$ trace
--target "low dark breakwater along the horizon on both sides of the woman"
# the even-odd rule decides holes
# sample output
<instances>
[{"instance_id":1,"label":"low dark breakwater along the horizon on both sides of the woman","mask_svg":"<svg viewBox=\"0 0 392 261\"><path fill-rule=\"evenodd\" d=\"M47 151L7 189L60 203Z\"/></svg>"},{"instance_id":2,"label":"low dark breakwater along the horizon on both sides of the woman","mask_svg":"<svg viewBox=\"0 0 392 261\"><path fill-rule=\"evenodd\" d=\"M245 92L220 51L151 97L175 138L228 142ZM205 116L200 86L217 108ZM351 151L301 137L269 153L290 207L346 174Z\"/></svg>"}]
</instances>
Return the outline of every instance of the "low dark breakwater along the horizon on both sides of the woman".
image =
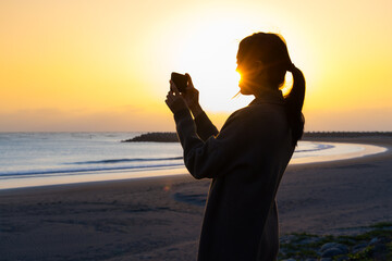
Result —
<instances>
[{"instance_id":1,"label":"low dark breakwater along the horizon on both sides of the woman","mask_svg":"<svg viewBox=\"0 0 392 261\"><path fill-rule=\"evenodd\" d=\"M309 132L303 138L358 138L358 137L392 137L392 132ZM122 142L179 142L176 133L146 133Z\"/></svg>"}]
</instances>

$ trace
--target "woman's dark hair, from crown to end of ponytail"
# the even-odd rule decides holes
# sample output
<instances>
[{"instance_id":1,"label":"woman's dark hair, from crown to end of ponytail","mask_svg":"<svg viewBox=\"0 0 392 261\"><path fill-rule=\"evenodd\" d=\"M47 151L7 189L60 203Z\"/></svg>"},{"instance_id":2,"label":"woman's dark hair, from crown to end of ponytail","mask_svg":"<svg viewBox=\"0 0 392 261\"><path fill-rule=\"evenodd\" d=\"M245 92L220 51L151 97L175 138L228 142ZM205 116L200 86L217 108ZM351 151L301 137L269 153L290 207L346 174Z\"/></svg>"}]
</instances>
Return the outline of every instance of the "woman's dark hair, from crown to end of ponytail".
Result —
<instances>
[{"instance_id":1,"label":"woman's dark hair, from crown to end of ponytail","mask_svg":"<svg viewBox=\"0 0 392 261\"><path fill-rule=\"evenodd\" d=\"M261 61L265 65L269 86L278 89L284 84L286 72L293 75L293 87L284 98L285 112L296 145L304 133L305 119L302 108L305 98L305 78L299 69L292 63L286 44L282 37L270 33L256 33L240 42L238 62Z\"/></svg>"}]
</instances>

